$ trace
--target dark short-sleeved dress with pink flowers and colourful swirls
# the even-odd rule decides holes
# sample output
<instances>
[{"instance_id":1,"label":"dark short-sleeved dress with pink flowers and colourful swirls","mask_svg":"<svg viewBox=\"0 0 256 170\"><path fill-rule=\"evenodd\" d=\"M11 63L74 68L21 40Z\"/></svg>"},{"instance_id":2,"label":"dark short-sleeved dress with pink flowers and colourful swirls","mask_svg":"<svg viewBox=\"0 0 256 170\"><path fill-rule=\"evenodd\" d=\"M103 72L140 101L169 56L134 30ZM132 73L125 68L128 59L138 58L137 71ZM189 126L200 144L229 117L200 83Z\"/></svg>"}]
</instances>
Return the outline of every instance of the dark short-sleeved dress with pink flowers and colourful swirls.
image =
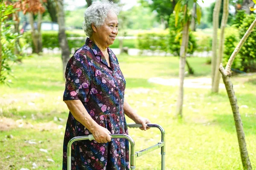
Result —
<instances>
[{"instance_id":1,"label":"dark short-sleeved dress with pink flowers and colourful swirls","mask_svg":"<svg viewBox=\"0 0 256 170\"><path fill-rule=\"evenodd\" d=\"M87 38L85 44L70 58L66 68L63 100L81 100L87 112L112 134L128 134L123 111L125 79L119 62L110 48L111 67L100 49ZM67 169L67 143L75 136L89 135L69 112L63 146L63 167ZM72 170L129 170L127 139L74 142L71 150Z\"/></svg>"}]
</instances>

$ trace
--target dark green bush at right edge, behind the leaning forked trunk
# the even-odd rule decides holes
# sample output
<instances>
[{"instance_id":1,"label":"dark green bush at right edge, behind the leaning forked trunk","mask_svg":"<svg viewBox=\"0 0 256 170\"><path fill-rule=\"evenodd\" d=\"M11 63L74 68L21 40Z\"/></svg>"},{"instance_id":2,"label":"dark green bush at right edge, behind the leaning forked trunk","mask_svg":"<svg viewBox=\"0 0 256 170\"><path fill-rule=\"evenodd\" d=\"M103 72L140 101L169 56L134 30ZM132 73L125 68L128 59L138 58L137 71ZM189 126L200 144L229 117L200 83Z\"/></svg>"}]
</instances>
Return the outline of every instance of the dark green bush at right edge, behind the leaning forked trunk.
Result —
<instances>
[{"instance_id":1,"label":"dark green bush at right edge, behind the leaning forked trunk","mask_svg":"<svg viewBox=\"0 0 256 170\"><path fill-rule=\"evenodd\" d=\"M250 24L255 20L256 15L250 14L244 18L242 25L239 27L239 38L241 39ZM256 32L252 31L250 36L244 42L243 47L239 51L239 57L241 58L241 71L255 72L256 71Z\"/></svg>"}]
</instances>

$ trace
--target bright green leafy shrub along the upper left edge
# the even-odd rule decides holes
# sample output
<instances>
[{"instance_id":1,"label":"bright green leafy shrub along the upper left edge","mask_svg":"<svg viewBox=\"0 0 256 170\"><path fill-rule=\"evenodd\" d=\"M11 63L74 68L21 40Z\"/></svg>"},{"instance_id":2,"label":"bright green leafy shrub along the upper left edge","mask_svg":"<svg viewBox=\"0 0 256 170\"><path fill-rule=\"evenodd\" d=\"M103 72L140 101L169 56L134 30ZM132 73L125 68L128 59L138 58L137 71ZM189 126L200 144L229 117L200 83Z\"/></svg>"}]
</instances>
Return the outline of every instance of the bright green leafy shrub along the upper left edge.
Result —
<instances>
[{"instance_id":1,"label":"bright green leafy shrub along the upper left edge","mask_svg":"<svg viewBox=\"0 0 256 170\"><path fill-rule=\"evenodd\" d=\"M15 55L15 41L18 34L12 32L14 22L8 21L7 18L10 14L14 13L16 9L12 5L6 6L3 2L0 3L0 43L2 45L0 56L0 83L7 83L6 79L12 75L10 61L15 62L17 56Z\"/></svg>"}]
</instances>

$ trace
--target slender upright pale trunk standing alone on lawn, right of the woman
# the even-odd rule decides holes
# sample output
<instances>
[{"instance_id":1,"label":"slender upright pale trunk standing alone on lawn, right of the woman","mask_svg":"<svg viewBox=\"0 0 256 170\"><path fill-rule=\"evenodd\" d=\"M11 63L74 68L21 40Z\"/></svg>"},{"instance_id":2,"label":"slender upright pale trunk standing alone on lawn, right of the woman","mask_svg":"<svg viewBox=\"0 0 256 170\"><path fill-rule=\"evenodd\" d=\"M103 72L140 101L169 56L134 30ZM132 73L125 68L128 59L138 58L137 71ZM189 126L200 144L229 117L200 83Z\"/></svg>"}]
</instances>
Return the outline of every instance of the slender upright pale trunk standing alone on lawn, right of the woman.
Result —
<instances>
[{"instance_id":1,"label":"slender upright pale trunk standing alone on lawn, right of the woman","mask_svg":"<svg viewBox=\"0 0 256 170\"><path fill-rule=\"evenodd\" d=\"M179 92L177 99L176 117L182 118L182 106L183 106L183 82L185 77L185 65L186 65L186 51L189 42L189 21L183 26L182 43L180 46L180 66L179 66Z\"/></svg>"}]
</instances>

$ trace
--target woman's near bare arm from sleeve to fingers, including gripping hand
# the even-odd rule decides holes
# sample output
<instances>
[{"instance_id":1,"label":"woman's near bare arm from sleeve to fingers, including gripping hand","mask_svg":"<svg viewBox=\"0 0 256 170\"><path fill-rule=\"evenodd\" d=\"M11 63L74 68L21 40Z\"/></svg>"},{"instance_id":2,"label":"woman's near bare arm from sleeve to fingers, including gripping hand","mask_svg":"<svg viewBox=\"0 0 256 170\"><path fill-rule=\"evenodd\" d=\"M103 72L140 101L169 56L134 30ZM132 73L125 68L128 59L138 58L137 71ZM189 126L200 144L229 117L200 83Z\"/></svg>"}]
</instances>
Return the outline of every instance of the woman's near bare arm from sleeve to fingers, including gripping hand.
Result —
<instances>
[{"instance_id":1,"label":"woman's near bare arm from sleeve to fingers, including gripping hand","mask_svg":"<svg viewBox=\"0 0 256 170\"><path fill-rule=\"evenodd\" d=\"M92 134L96 142L107 143L111 141L111 134L108 129L98 125L84 108L80 100L66 100L68 109L74 118L86 127Z\"/></svg>"}]
</instances>

